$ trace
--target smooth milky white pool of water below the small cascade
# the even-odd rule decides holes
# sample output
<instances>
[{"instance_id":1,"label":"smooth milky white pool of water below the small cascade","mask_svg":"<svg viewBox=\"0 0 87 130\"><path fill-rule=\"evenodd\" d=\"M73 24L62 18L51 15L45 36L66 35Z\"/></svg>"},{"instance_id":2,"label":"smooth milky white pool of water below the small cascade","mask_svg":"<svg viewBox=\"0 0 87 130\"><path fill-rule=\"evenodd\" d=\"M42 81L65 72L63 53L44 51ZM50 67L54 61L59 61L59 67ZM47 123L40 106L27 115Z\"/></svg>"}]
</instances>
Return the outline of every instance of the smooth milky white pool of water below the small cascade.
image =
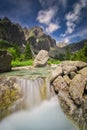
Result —
<instances>
[{"instance_id":1,"label":"smooth milky white pool of water below the small cascade","mask_svg":"<svg viewBox=\"0 0 87 130\"><path fill-rule=\"evenodd\" d=\"M15 113L0 123L0 130L77 130L66 118L55 96L32 111Z\"/></svg>"}]
</instances>

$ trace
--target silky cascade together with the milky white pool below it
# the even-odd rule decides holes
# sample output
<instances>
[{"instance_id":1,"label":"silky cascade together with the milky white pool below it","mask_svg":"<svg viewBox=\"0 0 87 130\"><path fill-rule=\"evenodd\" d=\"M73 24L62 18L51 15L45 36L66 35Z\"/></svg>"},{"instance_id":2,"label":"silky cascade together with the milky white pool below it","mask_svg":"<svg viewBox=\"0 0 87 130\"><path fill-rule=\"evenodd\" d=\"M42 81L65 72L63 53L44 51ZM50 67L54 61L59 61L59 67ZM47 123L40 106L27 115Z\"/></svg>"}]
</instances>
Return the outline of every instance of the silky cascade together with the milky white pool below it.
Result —
<instances>
[{"instance_id":1,"label":"silky cascade together with the milky white pool below it","mask_svg":"<svg viewBox=\"0 0 87 130\"><path fill-rule=\"evenodd\" d=\"M17 83L22 97L10 108L14 113L0 122L0 130L78 130L62 112L48 78L21 77Z\"/></svg>"}]
</instances>

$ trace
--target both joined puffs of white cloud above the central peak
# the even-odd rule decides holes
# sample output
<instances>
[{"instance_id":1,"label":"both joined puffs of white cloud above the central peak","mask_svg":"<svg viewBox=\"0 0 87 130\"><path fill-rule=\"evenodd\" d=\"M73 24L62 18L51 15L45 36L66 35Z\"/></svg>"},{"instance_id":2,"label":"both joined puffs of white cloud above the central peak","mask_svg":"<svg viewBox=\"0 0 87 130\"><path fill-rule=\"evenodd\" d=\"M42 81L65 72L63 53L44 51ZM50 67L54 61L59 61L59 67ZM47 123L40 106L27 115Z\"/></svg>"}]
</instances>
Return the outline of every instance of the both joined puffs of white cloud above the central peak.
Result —
<instances>
[{"instance_id":1,"label":"both joined puffs of white cloud above the central peak","mask_svg":"<svg viewBox=\"0 0 87 130\"><path fill-rule=\"evenodd\" d=\"M36 19L39 23L45 24L45 31L47 33L53 33L54 31L60 28L59 23L56 22L56 20L54 22L57 10L58 9L56 7L51 7L49 9L40 10L38 12L38 16Z\"/></svg>"}]
</instances>

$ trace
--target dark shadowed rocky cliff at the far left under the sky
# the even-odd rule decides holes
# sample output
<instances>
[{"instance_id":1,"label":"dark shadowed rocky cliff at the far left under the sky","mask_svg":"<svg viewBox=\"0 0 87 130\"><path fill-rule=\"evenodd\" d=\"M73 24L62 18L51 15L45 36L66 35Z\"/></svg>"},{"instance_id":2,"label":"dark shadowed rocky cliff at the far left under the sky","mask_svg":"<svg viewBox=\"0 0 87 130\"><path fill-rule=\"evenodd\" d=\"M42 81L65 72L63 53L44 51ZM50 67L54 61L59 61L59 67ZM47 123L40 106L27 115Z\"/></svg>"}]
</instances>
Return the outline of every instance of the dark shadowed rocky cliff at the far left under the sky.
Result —
<instances>
[{"instance_id":1,"label":"dark shadowed rocky cliff at the far left under the sky","mask_svg":"<svg viewBox=\"0 0 87 130\"><path fill-rule=\"evenodd\" d=\"M25 43L22 27L19 24L12 23L7 17L0 19L0 39L18 45Z\"/></svg>"}]
</instances>

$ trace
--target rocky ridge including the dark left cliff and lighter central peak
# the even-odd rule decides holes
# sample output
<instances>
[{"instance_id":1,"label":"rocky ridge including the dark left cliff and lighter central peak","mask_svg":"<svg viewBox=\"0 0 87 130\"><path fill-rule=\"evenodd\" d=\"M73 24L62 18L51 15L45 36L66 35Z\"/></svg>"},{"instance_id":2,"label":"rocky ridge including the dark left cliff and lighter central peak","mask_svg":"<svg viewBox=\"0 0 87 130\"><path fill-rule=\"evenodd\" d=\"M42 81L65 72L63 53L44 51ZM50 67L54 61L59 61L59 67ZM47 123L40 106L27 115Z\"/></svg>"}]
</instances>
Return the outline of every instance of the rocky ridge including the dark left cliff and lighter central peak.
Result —
<instances>
[{"instance_id":1,"label":"rocky ridge including the dark left cliff and lighter central peak","mask_svg":"<svg viewBox=\"0 0 87 130\"><path fill-rule=\"evenodd\" d=\"M29 41L32 52L38 52L41 49L49 51L51 47L56 46L56 41L46 35L41 27L22 28L19 24L12 23L7 17L0 19L0 39L20 46Z\"/></svg>"}]
</instances>

